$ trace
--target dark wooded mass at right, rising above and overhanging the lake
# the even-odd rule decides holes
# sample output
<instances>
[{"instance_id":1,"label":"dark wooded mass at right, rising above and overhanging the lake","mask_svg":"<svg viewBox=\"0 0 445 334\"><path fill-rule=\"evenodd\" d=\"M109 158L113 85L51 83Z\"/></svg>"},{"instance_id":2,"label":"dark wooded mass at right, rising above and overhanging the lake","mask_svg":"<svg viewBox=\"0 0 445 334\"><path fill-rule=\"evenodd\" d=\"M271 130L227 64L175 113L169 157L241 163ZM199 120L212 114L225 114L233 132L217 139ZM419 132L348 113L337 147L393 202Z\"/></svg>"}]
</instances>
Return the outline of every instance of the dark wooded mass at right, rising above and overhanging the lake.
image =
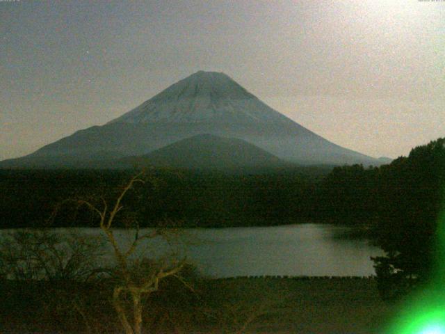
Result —
<instances>
[{"instance_id":1,"label":"dark wooded mass at right, rising above and overhanging the lake","mask_svg":"<svg viewBox=\"0 0 445 334\"><path fill-rule=\"evenodd\" d=\"M439 239L445 224L445 138L380 168L334 168L321 188L325 218L372 223L371 237L385 250L373 259L385 299L438 275L445 260Z\"/></svg>"}]
</instances>

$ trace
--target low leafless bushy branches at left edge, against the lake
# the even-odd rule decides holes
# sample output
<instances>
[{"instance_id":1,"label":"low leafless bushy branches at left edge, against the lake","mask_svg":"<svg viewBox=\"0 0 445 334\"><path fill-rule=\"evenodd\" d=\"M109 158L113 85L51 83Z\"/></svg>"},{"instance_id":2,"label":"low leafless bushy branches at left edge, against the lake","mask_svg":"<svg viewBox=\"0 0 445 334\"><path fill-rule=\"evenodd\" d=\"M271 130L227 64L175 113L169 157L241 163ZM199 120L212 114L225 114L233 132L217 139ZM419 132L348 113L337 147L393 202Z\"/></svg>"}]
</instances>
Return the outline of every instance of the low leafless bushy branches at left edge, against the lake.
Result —
<instances>
[{"instance_id":1,"label":"low leafless bushy branches at left edge, against the lake","mask_svg":"<svg viewBox=\"0 0 445 334\"><path fill-rule=\"evenodd\" d=\"M86 280L95 271L99 238L43 229L7 232L0 239L0 276L13 280Z\"/></svg>"}]
</instances>

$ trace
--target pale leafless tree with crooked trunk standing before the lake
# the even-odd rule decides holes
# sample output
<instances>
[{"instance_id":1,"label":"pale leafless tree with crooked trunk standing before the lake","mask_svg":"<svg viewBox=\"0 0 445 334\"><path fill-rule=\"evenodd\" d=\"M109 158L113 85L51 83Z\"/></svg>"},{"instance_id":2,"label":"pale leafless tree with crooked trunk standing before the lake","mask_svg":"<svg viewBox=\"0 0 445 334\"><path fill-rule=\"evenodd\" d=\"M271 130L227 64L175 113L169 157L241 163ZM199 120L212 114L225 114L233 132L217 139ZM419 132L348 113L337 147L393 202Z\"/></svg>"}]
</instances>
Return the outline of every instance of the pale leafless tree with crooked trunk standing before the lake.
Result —
<instances>
[{"instance_id":1,"label":"pale leafless tree with crooked trunk standing before the lake","mask_svg":"<svg viewBox=\"0 0 445 334\"><path fill-rule=\"evenodd\" d=\"M120 323L126 334L140 334L143 328L143 298L149 296L159 289L159 282L168 276L178 276L179 271L184 267L185 260L135 260L134 254L141 241L158 237L168 238L169 231L165 228L151 230L140 234L136 223L136 232L133 241L127 247L120 246L113 232L115 217L123 209L122 200L137 183L145 183L144 172L131 178L120 192L118 198L108 205L102 199L102 207L93 205L86 200L78 200L79 204L86 205L100 218L100 228L106 235L108 242L113 248L114 258L117 262L115 271L115 286L113 288L113 307L118 313ZM126 298L130 299L130 307L126 307Z\"/></svg>"}]
</instances>

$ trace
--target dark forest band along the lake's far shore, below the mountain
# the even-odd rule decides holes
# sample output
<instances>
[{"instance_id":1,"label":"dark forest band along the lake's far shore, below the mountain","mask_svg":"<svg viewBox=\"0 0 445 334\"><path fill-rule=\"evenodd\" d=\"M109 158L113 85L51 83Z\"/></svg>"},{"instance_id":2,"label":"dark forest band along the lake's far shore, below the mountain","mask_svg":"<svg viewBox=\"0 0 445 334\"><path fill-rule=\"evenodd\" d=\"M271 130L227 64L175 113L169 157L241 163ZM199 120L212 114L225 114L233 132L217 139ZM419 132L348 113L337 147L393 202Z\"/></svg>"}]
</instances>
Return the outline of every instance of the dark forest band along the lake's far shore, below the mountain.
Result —
<instances>
[{"instance_id":1,"label":"dark forest band along the lake's far shore, below the mountain","mask_svg":"<svg viewBox=\"0 0 445 334\"><path fill-rule=\"evenodd\" d=\"M329 168L280 173L149 170L124 199L118 225L226 227L312 220L316 186ZM110 202L136 170L1 170L0 227L97 227L77 200Z\"/></svg>"}]
</instances>

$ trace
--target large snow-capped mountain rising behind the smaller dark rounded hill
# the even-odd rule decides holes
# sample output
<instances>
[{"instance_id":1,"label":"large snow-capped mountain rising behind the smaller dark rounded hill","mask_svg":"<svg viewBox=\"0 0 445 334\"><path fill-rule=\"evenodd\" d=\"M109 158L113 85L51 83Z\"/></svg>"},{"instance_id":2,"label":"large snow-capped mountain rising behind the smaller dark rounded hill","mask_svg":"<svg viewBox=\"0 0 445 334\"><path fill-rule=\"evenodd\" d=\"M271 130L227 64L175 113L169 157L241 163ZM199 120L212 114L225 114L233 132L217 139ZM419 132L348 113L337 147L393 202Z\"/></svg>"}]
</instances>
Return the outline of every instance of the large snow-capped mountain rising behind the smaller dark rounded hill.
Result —
<instances>
[{"instance_id":1,"label":"large snow-capped mountain rising behind the smaller dark rounded hill","mask_svg":"<svg viewBox=\"0 0 445 334\"><path fill-rule=\"evenodd\" d=\"M200 71L105 125L80 130L25 157L0 161L0 168L76 168L91 161L108 161L113 168L113 161L202 134L235 138L297 164L381 164L302 127L226 74Z\"/></svg>"}]
</instances>

